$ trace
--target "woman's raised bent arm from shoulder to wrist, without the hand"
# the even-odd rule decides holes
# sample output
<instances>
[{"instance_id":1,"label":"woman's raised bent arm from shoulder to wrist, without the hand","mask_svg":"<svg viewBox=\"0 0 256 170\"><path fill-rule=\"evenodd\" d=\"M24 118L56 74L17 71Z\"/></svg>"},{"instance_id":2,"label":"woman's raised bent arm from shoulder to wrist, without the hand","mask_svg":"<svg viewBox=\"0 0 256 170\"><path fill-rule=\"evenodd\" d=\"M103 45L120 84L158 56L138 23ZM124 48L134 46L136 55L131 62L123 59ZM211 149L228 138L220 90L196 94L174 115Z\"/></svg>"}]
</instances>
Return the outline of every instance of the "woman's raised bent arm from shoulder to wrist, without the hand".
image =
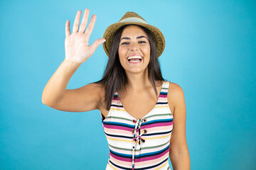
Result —
<instances>
[{"instance_id":1,"label":"woman's raised bent arm from shoulder to wrist, without the hand","mask_svg":"<svg viewBox=\"0 0 256 170\"><path fill-rule=\"evenodd\" d=\"M59 111L85 112L100 109L104 100L101 84L87 84L78 89L66 89L68 81L80 64L64 60L43 89L42 102Z\"/></svg>"}]
</instances>

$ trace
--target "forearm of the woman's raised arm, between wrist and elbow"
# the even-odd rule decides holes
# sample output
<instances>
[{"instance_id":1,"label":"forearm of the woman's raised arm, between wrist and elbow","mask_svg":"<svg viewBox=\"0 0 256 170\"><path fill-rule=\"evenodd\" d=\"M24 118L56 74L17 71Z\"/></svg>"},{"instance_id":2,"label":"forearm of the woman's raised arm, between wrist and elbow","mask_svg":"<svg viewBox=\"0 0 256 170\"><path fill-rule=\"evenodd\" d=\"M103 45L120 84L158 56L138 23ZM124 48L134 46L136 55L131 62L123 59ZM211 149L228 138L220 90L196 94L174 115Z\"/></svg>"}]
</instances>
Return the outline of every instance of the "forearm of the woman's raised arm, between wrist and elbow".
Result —
<instances>
[{"instance_id":1,"label":"forearm of the woman's raised arm, between wrist and elbow","mask_svg":"<svg viewBox=\"0 0 256 170\"><path fill-rule=\"evenodd\" d=\"M43 89L42 102L48 106L53 106L61 100L68 86L68 81L73 76L80 64L64 60L55 71Z\"/></svg>"}]
</instances>

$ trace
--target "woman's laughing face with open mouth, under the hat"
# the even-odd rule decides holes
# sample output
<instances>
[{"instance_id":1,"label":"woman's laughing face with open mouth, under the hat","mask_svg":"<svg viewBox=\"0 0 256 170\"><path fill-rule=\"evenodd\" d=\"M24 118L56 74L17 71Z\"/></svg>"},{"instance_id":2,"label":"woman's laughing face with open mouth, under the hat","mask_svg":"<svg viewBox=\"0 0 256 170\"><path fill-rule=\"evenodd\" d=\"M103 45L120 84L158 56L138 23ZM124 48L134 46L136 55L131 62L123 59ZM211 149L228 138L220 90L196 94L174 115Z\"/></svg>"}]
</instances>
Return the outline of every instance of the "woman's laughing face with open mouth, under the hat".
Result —
<instances>
[{"instance_id":1,"label":"woman's laughing face with open mouth, under the hat","mask_svg":"<svg viewBox=\"0 0 256 170\"><path fill-rule=\"evenodd\" d=\"M118 48L119 60L125 72L144 72L150 60L149 38L139 26L127 26L122 31Z\"/></svg>"}]
</instances>

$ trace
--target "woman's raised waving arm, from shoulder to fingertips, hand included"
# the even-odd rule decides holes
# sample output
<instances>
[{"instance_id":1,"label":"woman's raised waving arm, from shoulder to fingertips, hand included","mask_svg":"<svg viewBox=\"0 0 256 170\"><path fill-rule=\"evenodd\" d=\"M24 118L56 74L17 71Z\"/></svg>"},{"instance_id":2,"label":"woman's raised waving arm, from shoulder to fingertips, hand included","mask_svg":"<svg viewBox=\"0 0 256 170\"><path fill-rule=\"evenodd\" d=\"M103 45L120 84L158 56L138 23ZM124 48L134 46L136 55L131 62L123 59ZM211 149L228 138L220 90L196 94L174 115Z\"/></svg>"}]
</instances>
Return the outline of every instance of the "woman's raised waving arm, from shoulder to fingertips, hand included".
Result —
<instances>
[{"instance_id":1,"label":"woman's raised waving arm, from shoulder to fingertips, hand included","mask_svg":"<svg viewBox=\"0 0 256 170\"><path fill-rule=\"evenodd\" d=\"M80 64L85 62L95 52L95 49L105 41L104 38L100 38L89 46L89 38L95 25L96 16L92 15L87 26L89 9L85 9L79 28L81 13L82 11L78 11L75 16L72 34L70 33L70 21L66 21L65 60L43 89L42 102L60 111L91 111L97 109L100 101L102 101L100 95L102 94L102 86L100 85L87 84L78 89L66 89L68 81L80 67Z\"/></svg>"}]
</instances>

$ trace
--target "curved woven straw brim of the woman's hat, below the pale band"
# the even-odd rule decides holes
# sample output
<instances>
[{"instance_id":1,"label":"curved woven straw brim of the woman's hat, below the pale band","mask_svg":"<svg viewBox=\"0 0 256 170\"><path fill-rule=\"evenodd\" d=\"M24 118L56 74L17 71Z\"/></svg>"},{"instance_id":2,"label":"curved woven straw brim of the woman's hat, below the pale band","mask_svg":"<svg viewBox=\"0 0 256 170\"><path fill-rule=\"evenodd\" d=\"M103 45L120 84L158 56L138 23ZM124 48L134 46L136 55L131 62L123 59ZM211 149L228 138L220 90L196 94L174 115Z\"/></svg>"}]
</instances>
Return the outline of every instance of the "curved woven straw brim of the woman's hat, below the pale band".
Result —
<instances>
[{"instance_id":1,"label":"curved woven straw brim of the woman's hat, below the pale band","mask_svg":"<svg viewBox=\"0 0 256 170\"><path fill-rule=\"evenodd\" d=\"M161 31L149 24L146 23L138 23L138 22L125 22L125 23L113 23L107 29L105 30L105 33L103 34L103 38L105 38L105 42L103 42L103 49L105 50L106 54L108 57L110 57L110 48L114 39L114 34L117 32L119 28L125 25L139 25L142 26L146 29L148 29L152 35L154 36L154 41L156 43L156 53L157 57L160 57L160 55L164 52L164 47L165 47L165 39L163 33Z\"/></svg>"}]
</instances>

